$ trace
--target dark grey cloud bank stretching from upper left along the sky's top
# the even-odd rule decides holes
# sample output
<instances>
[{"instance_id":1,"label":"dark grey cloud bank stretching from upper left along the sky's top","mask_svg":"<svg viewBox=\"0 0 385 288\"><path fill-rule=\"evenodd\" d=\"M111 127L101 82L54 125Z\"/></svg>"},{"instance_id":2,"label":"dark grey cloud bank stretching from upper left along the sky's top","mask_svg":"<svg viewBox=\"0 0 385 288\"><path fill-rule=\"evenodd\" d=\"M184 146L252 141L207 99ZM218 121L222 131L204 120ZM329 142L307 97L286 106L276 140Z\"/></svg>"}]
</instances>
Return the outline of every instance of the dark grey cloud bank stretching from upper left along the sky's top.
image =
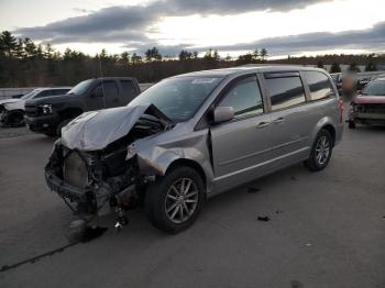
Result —
<instances>
[{"instance_id":1,"label":"dark grey cloud bank stretching from upper left along the sky's top","mask_svg":"<svg viewBox=\"0 0 385 288\"><path fill-rule=\"evenodd\" d=\"M238 14L251 11L288 11L330 0L156 0L147 5L116 5L68 18L45 26L22 27L14 32L53 44L70 42L146 42L146 32L163 16L190 14Z\"/></svg>"}]
</instances>

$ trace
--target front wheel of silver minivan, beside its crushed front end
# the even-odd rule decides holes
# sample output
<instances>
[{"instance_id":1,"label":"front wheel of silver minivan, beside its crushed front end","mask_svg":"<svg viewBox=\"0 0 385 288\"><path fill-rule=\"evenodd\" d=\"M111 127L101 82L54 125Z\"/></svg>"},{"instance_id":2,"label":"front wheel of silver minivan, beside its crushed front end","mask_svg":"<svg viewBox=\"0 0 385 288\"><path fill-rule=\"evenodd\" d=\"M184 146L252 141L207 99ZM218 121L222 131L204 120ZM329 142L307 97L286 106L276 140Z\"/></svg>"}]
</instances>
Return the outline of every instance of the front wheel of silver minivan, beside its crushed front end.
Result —
<instances>
[{"instance_id":1,"label":"front wheel of silver minivan, beside its crushed front end","mask_svg":"<svg viewBox=\"0 0 385 288\"><path fill-rule=\"evenodd\" d=\"M176 167L158 177L145 195L148 220L157 229L179 233L195 222L205 201L205 185L190 167Z\"/></svg>"}]
</instances>

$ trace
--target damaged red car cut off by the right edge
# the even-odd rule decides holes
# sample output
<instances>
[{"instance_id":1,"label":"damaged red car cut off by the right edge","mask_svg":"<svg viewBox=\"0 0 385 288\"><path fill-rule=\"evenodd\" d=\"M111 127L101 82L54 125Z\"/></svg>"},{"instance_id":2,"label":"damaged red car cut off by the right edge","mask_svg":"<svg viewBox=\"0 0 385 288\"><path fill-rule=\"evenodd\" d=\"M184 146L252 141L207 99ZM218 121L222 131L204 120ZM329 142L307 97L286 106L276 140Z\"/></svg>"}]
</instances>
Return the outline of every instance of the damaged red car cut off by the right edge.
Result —
<instances>
[{"instance_id":1,"label":"damaged red car cut off by the right edge","mask_svg":"<svg viewBox=\"0 0 385 288\"><path fill-rule=\"evenodd\" d=\"M356 123L385 124L385 78L369 82L352 99L348 123L350 129L354 129Z\"/></svg>"}]
</instances>

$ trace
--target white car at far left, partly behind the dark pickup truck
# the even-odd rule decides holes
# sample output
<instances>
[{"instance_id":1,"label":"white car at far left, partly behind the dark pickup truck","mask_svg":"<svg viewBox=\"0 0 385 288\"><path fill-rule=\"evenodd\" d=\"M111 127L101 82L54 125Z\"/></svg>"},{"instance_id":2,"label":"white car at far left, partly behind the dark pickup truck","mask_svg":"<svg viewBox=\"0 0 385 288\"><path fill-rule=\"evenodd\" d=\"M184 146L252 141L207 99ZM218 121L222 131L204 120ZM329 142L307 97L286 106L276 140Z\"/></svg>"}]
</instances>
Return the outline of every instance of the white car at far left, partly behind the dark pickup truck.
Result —
<instances>
[{"instance_id":1,"label":"white car at far left, partly behind the dark pickup truck","mask_svg":"<svg viewBox=\"0 0 385 288\"><path fill-rule=\"evenodd\" d=\"M40 99L48 96L63 95L72 87L37 88L21 98L11 98L0 101L0 122L8 126L24 125L24 104L29 99Z\"/></svg>"}]
</instances>

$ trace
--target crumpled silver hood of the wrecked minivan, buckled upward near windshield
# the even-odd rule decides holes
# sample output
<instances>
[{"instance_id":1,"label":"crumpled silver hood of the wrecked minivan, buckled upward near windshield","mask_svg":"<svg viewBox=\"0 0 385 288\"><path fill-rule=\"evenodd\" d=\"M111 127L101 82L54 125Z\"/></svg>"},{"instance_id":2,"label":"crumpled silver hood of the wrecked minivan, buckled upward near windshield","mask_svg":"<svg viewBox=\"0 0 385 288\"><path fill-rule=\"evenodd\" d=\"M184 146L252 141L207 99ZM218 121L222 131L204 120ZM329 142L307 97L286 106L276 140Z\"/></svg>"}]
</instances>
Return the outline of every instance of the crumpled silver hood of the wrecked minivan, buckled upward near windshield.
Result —
<instances>
[{"instance_id":1,"label":"crumpled silver hood of the wrecked minivan, buckled upward near windshield","mask_svg":"<svg viewBox=\"0 0 385 288\"><path fill-rule=\"evenodd\" d=\"M168 125L173 122L155 106L127 106L86 112L62 130L62 144L70 149L99 151L125 136L143 115L156 117Z\"/></svg>"}]
</instances>

